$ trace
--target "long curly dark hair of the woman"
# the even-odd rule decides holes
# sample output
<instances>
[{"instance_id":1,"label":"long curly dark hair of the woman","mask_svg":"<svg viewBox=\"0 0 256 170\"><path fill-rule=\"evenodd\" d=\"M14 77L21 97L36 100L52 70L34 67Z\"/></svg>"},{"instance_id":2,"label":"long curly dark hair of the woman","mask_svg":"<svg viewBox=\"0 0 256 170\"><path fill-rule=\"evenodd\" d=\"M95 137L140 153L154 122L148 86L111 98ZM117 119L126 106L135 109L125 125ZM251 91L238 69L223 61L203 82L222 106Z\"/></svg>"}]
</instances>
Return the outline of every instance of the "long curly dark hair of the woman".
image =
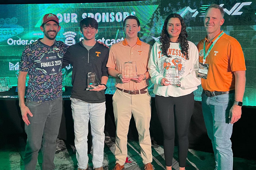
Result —
<instances>
[{"instance_id":1,"label":"long curly dark hair of the woman","mask_svg":"<svg viewBox=\"0 0 256 170\"><path fill-rule=\"evenodd\" d=\"M181 46L181 53L184 55L184 57L186 59L189 59L189 57L188 57L188 48L189 47L188 47L188 40L187 40L188 34L187 34L187 31L186 31L185 22L179 14L170 14L170 15L168 15L168 17L164 21L162 33L161 33L161 36L160 36L160 42L162 43L162 45L160 45L160 48L162 50L162 54L166 55L168 57L171 57L170 55L167 54L168 53L168 48L170 47L170 38L169 38L169 34L166 30L166 27L167 27L167 24L168 24L168 21L169 21L170 18L179 18L179 20L180 20L181 32L180 32L178 41L179 41L180 46Z\"/></svg>"}]
</instances>

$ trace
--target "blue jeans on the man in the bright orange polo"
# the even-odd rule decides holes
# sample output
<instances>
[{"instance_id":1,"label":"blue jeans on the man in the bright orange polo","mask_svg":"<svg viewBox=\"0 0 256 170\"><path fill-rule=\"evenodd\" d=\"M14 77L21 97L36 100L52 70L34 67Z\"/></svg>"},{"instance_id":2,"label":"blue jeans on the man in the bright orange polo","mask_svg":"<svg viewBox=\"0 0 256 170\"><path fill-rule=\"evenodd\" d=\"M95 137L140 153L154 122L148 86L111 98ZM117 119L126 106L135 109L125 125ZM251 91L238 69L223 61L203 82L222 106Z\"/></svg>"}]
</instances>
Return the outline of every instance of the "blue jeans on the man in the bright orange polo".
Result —
<instances>
[{"instance_id":1,"label":"blue jeans on the man in the bright orange polo","mask_svg":"<svg viewBox=\"0 0 256 170\"><path fill-rule=\"evenodd\" d=\"M215 155L215 170L233 169L231 134L233 124L229 121L229 110L233 106L235 93L207 97L202 94L202 110L209 138Z\"/></svg>"}]
</instances>

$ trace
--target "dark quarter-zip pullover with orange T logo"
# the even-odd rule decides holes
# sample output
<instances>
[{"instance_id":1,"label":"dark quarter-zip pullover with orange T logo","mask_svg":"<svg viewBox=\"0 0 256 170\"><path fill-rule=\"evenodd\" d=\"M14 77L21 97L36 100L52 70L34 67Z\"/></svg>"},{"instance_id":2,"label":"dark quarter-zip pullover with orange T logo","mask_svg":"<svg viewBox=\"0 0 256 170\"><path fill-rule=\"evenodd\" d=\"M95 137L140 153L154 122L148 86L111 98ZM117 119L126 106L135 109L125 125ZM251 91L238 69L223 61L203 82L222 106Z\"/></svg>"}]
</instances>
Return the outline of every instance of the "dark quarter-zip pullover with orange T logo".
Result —
<instances>
[{"instance_id":1,"label":"dark quarter-zip pullover with orange T logo","mask_svg":"<svg viewBox=\"0 0 256 170\"><path fill-rule=\"evenodd\" d=\"M63 57L62 68L71 64L72 70L72 92L71 98L80 99L88 103L102 103L106 101L105 92L86 90L88 72L95 72L99 84L101 77L108 76L107 61L109 49L96 42L88 51L82 41L71 45Z\"/></svg>"}]
</instances>

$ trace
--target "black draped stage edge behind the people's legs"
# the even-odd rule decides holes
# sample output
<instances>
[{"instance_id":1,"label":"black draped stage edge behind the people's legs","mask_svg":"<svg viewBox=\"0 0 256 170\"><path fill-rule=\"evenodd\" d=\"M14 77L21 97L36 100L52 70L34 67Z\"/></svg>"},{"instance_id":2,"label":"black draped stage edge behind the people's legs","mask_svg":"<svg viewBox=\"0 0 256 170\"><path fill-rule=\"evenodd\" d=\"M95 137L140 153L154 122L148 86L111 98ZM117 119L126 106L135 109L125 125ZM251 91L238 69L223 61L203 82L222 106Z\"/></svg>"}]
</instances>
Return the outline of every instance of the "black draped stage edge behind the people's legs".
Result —
<instances>
[{"instance_id":1,"label":"black draped stage edge behind the people's legs","mask_svg":"<svg viewBox=\"0 0 256 170\"><path fill-rule=\"evenodd\" d=\"M17 96L15 92L16 87L13 87L8 92L1 92L0 96ZM66 88L66 92L63 96L69 96L71 87ZM106 96L106 115L105 115L105 135L115 137L115 122L112 107L112 96ZM159 123L156 107L155 98L151 99L151 122L150 122L150 134L152 142L157 144L163 144L163 132ZM4 142L5 138L11 137L12 139L18 138L19 136L26 136L24 131L24 122L21 117L19 101L17 98L0 98L0 146ZM241 157L246 159L256 160L256 146L255 138L256 133L254 132L256 119L256 107L243 106L242 117L234 124L232 140L232 149L234 157ZM90 130L89 130L90 131ZM59 131L59 138L66 140L68 143L74 143L74 128L71 112L71 101L69 98L63 99L63 115ZM128 139L138 140L138 132L135 127L135 122L132 117L128 132ZM88 138L90 141L90 138ZM90 143L89 143L90 145ZM195 101L194 111L189 127L189 148L213 152L211 141L207 136L201 102Z\"/></svg>"}]
</instances>

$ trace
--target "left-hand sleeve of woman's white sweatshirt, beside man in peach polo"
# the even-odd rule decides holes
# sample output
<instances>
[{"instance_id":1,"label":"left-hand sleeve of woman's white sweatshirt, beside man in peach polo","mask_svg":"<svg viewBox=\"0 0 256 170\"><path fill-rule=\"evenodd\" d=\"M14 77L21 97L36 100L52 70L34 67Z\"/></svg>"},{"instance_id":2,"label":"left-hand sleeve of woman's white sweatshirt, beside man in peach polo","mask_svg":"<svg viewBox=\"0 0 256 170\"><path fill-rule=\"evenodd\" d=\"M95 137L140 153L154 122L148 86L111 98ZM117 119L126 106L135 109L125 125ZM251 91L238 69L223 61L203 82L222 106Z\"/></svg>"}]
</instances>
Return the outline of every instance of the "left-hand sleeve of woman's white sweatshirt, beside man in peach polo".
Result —
<instances>
[{"instance_id":1,"label":"left-hand sleeve of woman's white sweatshirt, beside man in peach polo","mask_svg":"<svg viewBox=\"0 0 256 170\"><path fill-rule=\"evenodd\" d=\"M148 72L151 76L151 81L154 84L158 84L161 85L161 80L163 77L162 74L160 74L159 72L159 66L157 63L157 58L158 58L158 47L159 47L160 43L157 41L154 43L152 49L151 49L151 53L150 53L150 57L149 57L149 61L148 61Z\"/></svg>"}]
</instances>

